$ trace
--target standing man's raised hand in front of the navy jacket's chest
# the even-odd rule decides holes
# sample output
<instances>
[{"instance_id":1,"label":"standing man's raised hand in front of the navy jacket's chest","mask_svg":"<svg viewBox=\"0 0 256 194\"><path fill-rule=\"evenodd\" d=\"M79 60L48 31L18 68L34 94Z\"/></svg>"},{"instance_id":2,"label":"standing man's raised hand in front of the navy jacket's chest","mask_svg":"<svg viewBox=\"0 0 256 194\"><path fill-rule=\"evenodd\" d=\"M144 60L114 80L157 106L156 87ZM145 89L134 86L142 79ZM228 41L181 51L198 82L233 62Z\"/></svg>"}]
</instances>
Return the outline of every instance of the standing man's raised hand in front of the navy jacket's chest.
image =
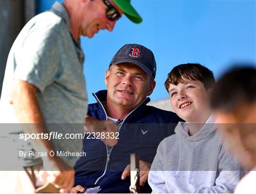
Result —
<instances>
[{"instance_id":1,"label":"standing man's raised hand in front of the navy jacket's chest","mask_svg":"<svg viewBox=\"0 0 256 194\"><path fill-rule=\"evenodd\" d=\"M103 132L105 138L102 138L103 135L100 135L100 137L101 141L106 145L112 146L118 143L118 140L116 139L116 137L118 136L116 134L117 126L110 120L97 120L89 116L85 116L84 130L89 133Z\"/></svg>"}]
</instances>

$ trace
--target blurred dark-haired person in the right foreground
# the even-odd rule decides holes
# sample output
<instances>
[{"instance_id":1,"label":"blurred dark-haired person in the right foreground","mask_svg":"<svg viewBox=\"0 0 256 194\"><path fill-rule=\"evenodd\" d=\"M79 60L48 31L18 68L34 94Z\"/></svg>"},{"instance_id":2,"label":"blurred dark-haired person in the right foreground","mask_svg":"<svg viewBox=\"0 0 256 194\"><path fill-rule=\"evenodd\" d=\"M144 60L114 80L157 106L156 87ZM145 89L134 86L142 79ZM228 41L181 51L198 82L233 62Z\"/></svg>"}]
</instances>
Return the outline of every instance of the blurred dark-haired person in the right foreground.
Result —
<instances>
[{"instance_id":1,"label":"blurred dark-haired person in the right foreground","mask_svg":"<svg viewBox=\"0 0 256 194\"><path fill-rule=\"evenodd\" d=\"M229 149L249 170L235 193L256 193L256 65L235 67L217 82L211 106Z\"/></svg>"}]
</instances>

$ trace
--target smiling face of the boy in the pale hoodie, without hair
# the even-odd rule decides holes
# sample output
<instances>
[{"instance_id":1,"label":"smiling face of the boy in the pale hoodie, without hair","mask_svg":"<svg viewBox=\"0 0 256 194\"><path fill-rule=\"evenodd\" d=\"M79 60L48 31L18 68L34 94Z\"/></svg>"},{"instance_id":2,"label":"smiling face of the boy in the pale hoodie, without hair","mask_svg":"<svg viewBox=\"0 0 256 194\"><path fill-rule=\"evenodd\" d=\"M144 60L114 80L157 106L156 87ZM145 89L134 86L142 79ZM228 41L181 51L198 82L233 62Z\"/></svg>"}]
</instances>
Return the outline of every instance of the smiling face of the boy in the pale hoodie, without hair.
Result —
<instances>
[{"instance_id":1,"label":"smiling face of the boy in the pale hoodie, without hair","mask_svg":"<svg viewBox=\"0 0 256 194\"><path fill-rule=\"evenodd\" d=\"M184 81L184 84L169 85L172 107L183 120L189 123L203 123L206 121L205 116L210 114L210 91L198 80Z\"/></svg>"}]
</instances>

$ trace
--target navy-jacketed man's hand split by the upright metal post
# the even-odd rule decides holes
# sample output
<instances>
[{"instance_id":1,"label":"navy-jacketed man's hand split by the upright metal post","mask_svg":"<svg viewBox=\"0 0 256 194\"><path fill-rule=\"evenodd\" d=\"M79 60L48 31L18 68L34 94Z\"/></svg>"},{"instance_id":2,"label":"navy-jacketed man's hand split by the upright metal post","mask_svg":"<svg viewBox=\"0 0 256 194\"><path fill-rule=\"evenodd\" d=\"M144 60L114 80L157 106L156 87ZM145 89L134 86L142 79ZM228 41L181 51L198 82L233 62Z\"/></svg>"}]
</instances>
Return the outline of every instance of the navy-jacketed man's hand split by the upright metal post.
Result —
<instances>
[{"instance_id":1,"label":"navy-jacketed man's hand split by the upright metal post","mask_svg":"<svg viewBox=\"0 0 256 194\"><path fill-rule=\"evenodd\" d=\"M139 185L144 186L148 178L148 173L150 170L151 164L145 161L139 160ZM127 167L124 169L122 174L122 180L126 177L130 177L131 165L128 164Z\"/></svg>"}]
</instances>

